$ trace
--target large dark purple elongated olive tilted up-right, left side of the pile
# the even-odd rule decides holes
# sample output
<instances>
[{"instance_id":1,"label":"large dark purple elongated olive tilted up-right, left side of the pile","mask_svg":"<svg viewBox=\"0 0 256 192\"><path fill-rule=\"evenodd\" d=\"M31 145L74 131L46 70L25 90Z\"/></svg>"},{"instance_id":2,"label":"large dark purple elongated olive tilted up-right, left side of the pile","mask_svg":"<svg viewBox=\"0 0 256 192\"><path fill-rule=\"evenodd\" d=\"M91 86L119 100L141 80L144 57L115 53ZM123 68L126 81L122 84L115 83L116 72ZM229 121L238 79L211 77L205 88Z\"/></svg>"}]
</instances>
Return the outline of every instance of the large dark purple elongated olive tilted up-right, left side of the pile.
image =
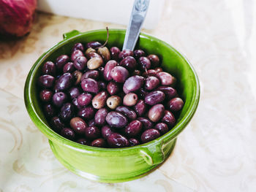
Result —
<instances>
[{"instance_id":1,"label":"large dark purple elongated olive tilted up-right, left side of the pile","mask_svg":"<svg viewBox=\"0 0 256 192\"><path fill-rule=\"evenodd\" d=\"M66 91L72 86L73 76L70 73L64 73L56 80L54 89L55 91Z\"/></svg>"}]
</instances>

